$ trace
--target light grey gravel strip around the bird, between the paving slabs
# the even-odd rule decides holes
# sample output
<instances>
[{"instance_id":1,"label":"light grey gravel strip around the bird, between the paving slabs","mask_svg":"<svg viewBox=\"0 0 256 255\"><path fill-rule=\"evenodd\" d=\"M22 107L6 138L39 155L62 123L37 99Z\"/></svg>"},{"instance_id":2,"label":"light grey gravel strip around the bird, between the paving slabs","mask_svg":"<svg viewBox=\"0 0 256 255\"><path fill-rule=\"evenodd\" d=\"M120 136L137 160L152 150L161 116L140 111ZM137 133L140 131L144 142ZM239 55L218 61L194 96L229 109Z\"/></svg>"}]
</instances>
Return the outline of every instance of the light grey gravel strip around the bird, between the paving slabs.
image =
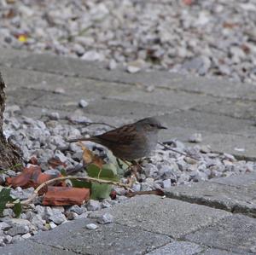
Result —
<instances>
[{"instance_id":1,"label":"light grey gravel strip around the bird, between the paving slabs","mask_svg":"<svg viewBox=\"0 0 256 255\"><path fill-rule=\"evenodd\" d=\"M14 109L19 112L18 106L8 107L5 112L3 127L5 135L12 142L19 145L24 153L25 165L27 165L26 162L32 156L35 156L38 158L38 164L43 171L61 171L58 167L52 169L48 165L48 160L51 158L60 159L61 162L66 163L67 169L82 165L81 148L75 143L66 143L65 138L82 136L88 133L90 135L97 134L108 129L106 126L90 125L84 127L84 125L70 125L62 119L53 120L51 118L52 114L44 116L44 121L20 115L15 116ZM77 117L77 119L79 118L84 120L86 116L81 115ZM171 141L169 143L172 143L173 148L183 154L189 154L197 160L174 153L159 145L150 159L143 160L143 171L139 173L142 182L134 183L132 186L133 191L170 188L177 185L206 181L213 177L228 177L256 171L256 162L237 160L230 154L212 153L211 148L203 144L203 137L200 134L191 134L188 137L188 141L194 142L193 146L185 146L183 142L179 141ZM105 154L102 147L94 143L87 142L86 146L97 154ZM0 182L3 183L6 177L15 177L17 174L19 172L13 170L4 171L0 174ZM78 172L77 175L84 175L84 171ZM127 180L123 177L121 181L125 183ZM24 200L31 196L33 190L34 188L18 187L13 188L11 194L15 198ZM115 200L110 198L102 201L89 200L82 206L41 206L40 200L35 200L32 208L26 208L21 213L20 218L15 218L11 209L5 209L3 217L0 219L0 246L24 240L36 235L38 231L55 229L61 223L66 223L76 218L90 217L90 212L129 200L124 195L124 188L115 187L114 190L117 193ZM111 223L113 222L113 216L103 215L97 222ZM87 228L97 229L97 225L89 224Z\"/></svg>"}]
</instances>

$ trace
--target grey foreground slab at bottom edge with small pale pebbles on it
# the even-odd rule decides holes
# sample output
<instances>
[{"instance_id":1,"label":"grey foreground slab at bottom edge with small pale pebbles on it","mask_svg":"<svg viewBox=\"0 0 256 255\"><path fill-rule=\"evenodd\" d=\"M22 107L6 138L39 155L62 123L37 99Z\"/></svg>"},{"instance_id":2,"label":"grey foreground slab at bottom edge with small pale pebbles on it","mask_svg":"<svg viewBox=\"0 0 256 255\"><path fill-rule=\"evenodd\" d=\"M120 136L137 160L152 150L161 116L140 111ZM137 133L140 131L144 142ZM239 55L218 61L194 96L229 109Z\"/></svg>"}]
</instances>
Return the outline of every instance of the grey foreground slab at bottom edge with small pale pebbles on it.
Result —
<instances>
[{"instance_id":1,"label":"grey foreground slab at bottom edge with small pale pebbles on it","mask_svg":"<svg viewBox=\"0 0 256 255\"><path fill-rule=\"evenodd\" d=\"M57 229L42 232L32 237L32 241L48 245L68 247L79 254L144 254L164 246L172 239L143 231L137 227L127 227L118 223L98 225L98 229L86 229L86 224L96 223L89 219L79 219L65 223Z\"/></svg>"}]
</instances>

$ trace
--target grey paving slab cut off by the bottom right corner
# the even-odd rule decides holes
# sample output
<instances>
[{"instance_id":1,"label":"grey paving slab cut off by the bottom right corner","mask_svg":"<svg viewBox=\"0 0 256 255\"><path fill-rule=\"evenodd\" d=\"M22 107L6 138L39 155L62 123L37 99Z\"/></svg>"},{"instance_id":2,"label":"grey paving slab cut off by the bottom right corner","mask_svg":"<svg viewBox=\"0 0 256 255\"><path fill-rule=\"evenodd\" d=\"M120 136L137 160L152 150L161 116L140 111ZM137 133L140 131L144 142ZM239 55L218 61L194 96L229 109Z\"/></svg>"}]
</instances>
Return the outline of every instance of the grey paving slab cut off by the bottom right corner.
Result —
<instances>
[{"instance_id":1,"label":"grey paving slab cut off by the bottom right corner","mask_svg":"<svg viewBox=\"0 0 256 255\"><path fill-rule=\"evenodd\" d=\"M256 253L256 221L234 215L185 237L188 241L241 254Z\"/></svg>"}]
</instances>

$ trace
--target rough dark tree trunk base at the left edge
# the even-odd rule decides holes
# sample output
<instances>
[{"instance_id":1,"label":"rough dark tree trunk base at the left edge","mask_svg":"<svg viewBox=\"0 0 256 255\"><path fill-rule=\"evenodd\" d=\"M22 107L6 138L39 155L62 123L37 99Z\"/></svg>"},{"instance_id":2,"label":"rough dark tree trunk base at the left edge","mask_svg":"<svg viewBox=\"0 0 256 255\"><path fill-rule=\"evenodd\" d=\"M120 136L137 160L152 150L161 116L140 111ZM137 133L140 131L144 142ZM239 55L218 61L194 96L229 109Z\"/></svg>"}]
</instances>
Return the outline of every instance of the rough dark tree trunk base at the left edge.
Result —
<instances>
[{"instance_id":1,"label":"rough dark tree trunk base at the left edge","mask_svg":"<svg viewBox=\"0 0 256 255\"><path fill-rule=\"evenodd\" d=\"M5 84L0 72L0 169L11 168L22 162L19 149L3 136L3 112L5 108Z\"/></svg>"}]
</instances>

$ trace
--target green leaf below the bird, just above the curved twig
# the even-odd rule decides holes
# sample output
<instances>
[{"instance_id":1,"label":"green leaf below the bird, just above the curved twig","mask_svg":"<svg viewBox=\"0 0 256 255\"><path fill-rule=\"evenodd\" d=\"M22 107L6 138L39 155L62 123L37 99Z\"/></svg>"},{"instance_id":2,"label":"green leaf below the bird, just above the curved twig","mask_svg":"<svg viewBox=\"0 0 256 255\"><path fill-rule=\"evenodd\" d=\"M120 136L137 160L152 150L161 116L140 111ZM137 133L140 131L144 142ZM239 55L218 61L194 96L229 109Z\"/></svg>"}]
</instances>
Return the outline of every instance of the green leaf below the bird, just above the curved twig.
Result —
<instances>
[{"instance_id":1,"label":"green leaf below the bird, just above the curved twig","mask_svg":"<svg viewBox=\"0 0 256 255\"><path fill-rule=\"evenodd\" d=\"M99 177L102 180L108 180L113 182L119 181L116 166L112 163L103 165L102 171L98 166L91 164L87 167L87 173L89 177Z\"/></svg>"}]
</instances>

